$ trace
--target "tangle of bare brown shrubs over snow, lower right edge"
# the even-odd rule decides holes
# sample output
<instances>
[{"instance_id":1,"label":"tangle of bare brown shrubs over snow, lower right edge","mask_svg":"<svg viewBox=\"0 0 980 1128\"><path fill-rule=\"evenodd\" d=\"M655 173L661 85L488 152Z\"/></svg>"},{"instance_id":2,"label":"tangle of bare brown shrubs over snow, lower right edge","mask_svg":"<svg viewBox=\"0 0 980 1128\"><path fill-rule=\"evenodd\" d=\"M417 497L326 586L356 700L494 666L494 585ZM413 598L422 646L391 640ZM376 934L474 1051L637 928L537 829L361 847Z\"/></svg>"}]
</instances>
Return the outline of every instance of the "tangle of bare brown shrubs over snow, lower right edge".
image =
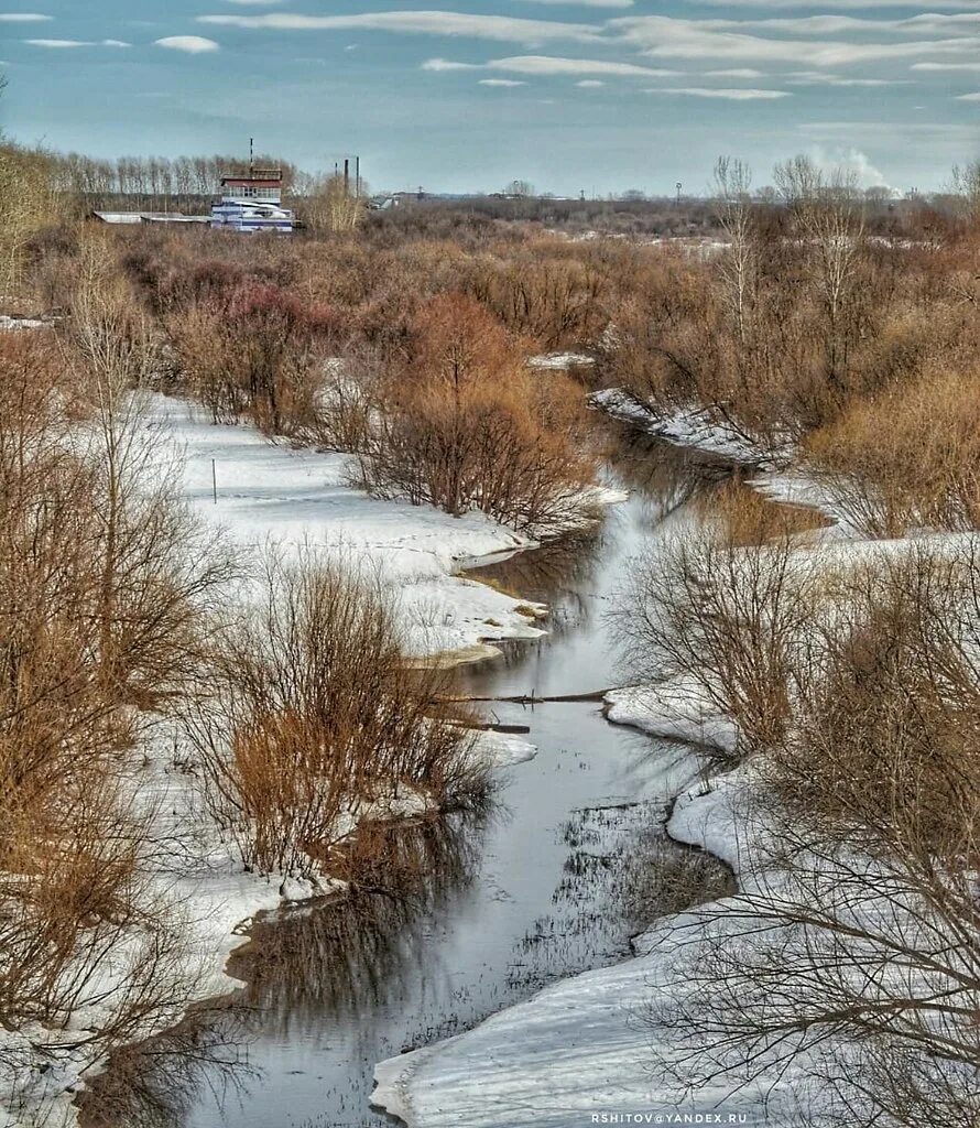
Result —
<instances>
[{"instance_id":1,"label":"tangle of bare brown shrubs over snow, lower right edge","mask_svg":"<svg viewBox=\"0 0 980 1128\"><path fill-rule=\"evenodd\" d=\"M802 1067L807 1122L975 1122L977 578L972 545L875 556L801 624L744 812L752 880L700 916L682 1007L654 1013L688 1083Z\"/></svg>"}]
</instances>

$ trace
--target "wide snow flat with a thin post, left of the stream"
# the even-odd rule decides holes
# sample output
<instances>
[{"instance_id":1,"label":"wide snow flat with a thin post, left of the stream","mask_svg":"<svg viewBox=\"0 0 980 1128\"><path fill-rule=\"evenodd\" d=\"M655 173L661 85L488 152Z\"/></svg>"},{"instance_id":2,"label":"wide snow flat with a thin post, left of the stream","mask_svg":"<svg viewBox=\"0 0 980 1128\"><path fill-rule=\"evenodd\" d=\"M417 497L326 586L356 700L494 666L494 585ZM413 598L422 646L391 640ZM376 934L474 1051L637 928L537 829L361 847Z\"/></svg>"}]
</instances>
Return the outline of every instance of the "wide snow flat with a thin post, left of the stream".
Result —
<instances>
[{"instance_id":1,"label":"wide snow flat with a thin post, left of the stream","mask_svg":"<svg viewBox=\"0 0 980 1128\"><path fill-rule=\"evenodd\" d=\"M151 425L183 464L184 496L248 553L266 544L325 546L378 569L397 594L409 649L495 653L501 638L537 638L540 610L458 574L463 565L535 541L483 513L377 501L346 484L346 456L270 442L249 426L210 422L201 408L153 397ZM217 494L217 501L215 501Z\"/></svg>"}]
</instances>

